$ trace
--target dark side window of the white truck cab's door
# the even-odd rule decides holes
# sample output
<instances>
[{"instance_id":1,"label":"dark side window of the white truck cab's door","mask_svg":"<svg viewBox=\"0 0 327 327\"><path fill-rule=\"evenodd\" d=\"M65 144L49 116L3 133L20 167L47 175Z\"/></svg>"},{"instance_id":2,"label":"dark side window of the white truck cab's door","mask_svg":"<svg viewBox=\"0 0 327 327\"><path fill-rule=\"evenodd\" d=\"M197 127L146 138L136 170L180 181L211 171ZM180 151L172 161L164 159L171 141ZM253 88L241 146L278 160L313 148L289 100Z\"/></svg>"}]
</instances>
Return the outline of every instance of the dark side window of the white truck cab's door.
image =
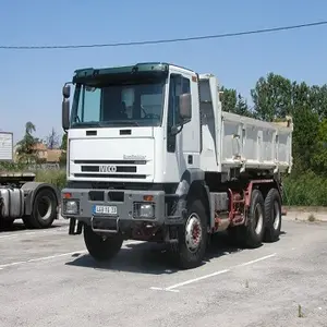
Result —
<instances>
[{"instance_id":1,"label":"dark side window of the white truck cab's door","mask_svg":"<svg viewBox=\"0 0 327 327\"><path fill-rule=\"evenodd\" d=\"M167 121L167 152L169 153L175 150L175 135L171 135L171 128L180 123L179 96L190 92L189 78L178 74L170 75Z\"/></svg>"}]
</instances>

